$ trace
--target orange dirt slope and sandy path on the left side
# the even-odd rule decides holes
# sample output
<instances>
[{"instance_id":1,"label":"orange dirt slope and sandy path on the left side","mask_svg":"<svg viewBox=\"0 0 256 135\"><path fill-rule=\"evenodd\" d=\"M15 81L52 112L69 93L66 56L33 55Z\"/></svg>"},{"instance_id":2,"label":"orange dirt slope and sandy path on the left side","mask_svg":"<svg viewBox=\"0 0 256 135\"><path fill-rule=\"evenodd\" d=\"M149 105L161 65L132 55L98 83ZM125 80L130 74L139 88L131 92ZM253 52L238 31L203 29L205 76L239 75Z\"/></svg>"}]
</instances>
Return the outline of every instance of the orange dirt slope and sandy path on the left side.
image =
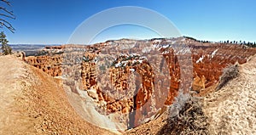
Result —
<instances>
[{"instance_id":1,"label":"orange dirt slope and sandy path on the left side","mask_svg":"<svg viewBox=\"0 0 256 135\"><path fill-rule=\"evenodd\" d=\"M0 56L0 134L113 134L75 113L61 81Z\"/></svg>"}]
</instances>

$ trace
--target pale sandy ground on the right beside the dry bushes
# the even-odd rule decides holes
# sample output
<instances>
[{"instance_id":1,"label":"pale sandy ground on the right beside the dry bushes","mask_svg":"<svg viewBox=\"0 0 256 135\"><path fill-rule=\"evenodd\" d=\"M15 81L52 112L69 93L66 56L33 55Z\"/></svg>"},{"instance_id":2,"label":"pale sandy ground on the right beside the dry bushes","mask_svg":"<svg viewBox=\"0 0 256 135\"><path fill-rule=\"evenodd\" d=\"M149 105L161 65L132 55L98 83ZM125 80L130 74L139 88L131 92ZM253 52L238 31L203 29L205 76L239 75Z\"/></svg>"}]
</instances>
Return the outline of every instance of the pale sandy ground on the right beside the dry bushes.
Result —
<instances>
[{"instance_id":1,"label":"pale sandy ground on the right beside the dry bushes","mask_svg":"<svg viewBox=\"0 0 256 135\"><path fill-rule=\"evenodd\" d=\"M256 56L240 75L204 100L211 134L256 134Z\"/></svg>"}]
</instances>

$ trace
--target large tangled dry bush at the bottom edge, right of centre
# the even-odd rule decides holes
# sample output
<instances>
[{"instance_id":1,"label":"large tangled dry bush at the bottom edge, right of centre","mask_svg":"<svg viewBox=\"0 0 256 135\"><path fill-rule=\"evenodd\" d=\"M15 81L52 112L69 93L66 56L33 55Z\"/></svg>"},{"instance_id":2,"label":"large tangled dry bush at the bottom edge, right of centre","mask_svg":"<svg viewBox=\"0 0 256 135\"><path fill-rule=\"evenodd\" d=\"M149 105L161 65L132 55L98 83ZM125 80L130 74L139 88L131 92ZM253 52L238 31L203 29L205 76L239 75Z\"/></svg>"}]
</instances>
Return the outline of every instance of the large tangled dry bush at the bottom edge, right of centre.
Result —
<instances>
[{"instance_id":1,"label":"large tangled dry bush at the bottom edge, right of centre","mask_svg":"<svg viewBox=\"0 0 256 135\"><path fill-rule=\"evenodd\" d=\"M157 134L208 134L207 116L198 98L180 94L169 114L167 124Z\"/></svg>"}]
</instances>

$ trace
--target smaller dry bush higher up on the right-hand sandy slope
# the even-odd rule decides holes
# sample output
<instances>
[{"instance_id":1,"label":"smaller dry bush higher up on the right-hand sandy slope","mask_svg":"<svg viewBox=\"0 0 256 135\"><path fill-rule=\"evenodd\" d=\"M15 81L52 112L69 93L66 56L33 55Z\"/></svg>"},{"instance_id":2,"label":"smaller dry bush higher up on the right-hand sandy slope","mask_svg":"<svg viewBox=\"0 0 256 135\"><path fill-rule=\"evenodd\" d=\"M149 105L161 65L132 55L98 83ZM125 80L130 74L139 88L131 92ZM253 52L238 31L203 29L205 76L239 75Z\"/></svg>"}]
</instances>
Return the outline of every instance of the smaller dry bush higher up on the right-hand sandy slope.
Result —
<instances>
[{"instance_id":1,"label":"smaller dry bush higher up on the right-hand sandy slope","mask_svg":"<svg viewBox=\"0 0 256 135\"><path fill-rule=\"evenodd\" d=\"M238 64L231 65L227 68L224 68L222 76L219 78L218 86L216 87L216 91L220 88L224 87L230 80L236 78L239 75Z\"/></svg>"}]
</instances>

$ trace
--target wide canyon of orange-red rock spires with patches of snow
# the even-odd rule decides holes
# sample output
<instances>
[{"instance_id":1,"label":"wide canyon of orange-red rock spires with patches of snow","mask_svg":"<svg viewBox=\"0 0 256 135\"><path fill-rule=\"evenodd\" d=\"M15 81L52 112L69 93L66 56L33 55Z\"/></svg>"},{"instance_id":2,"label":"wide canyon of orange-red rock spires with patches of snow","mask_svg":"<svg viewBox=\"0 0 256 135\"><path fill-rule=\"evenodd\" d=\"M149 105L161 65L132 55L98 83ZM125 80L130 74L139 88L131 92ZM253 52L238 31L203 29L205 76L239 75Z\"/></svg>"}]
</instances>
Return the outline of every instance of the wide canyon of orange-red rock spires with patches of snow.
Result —
<instances>
[{"instance_id":1,"label":"wide canyon of orange-red rock spires with patches of snow","mask_svg":"<svg viewBox=\"0 0 256 135\"><path fill-rule=\"evenodd\" d=\"M72 93L86 93L99 114L122 114L114 119L128 129L150 120L180 92L208 93L225 67L246 63L256 49L179 37L61 45L44 52L26 57L26 63L62 78Z\"/></svg>"}]
</instances>

